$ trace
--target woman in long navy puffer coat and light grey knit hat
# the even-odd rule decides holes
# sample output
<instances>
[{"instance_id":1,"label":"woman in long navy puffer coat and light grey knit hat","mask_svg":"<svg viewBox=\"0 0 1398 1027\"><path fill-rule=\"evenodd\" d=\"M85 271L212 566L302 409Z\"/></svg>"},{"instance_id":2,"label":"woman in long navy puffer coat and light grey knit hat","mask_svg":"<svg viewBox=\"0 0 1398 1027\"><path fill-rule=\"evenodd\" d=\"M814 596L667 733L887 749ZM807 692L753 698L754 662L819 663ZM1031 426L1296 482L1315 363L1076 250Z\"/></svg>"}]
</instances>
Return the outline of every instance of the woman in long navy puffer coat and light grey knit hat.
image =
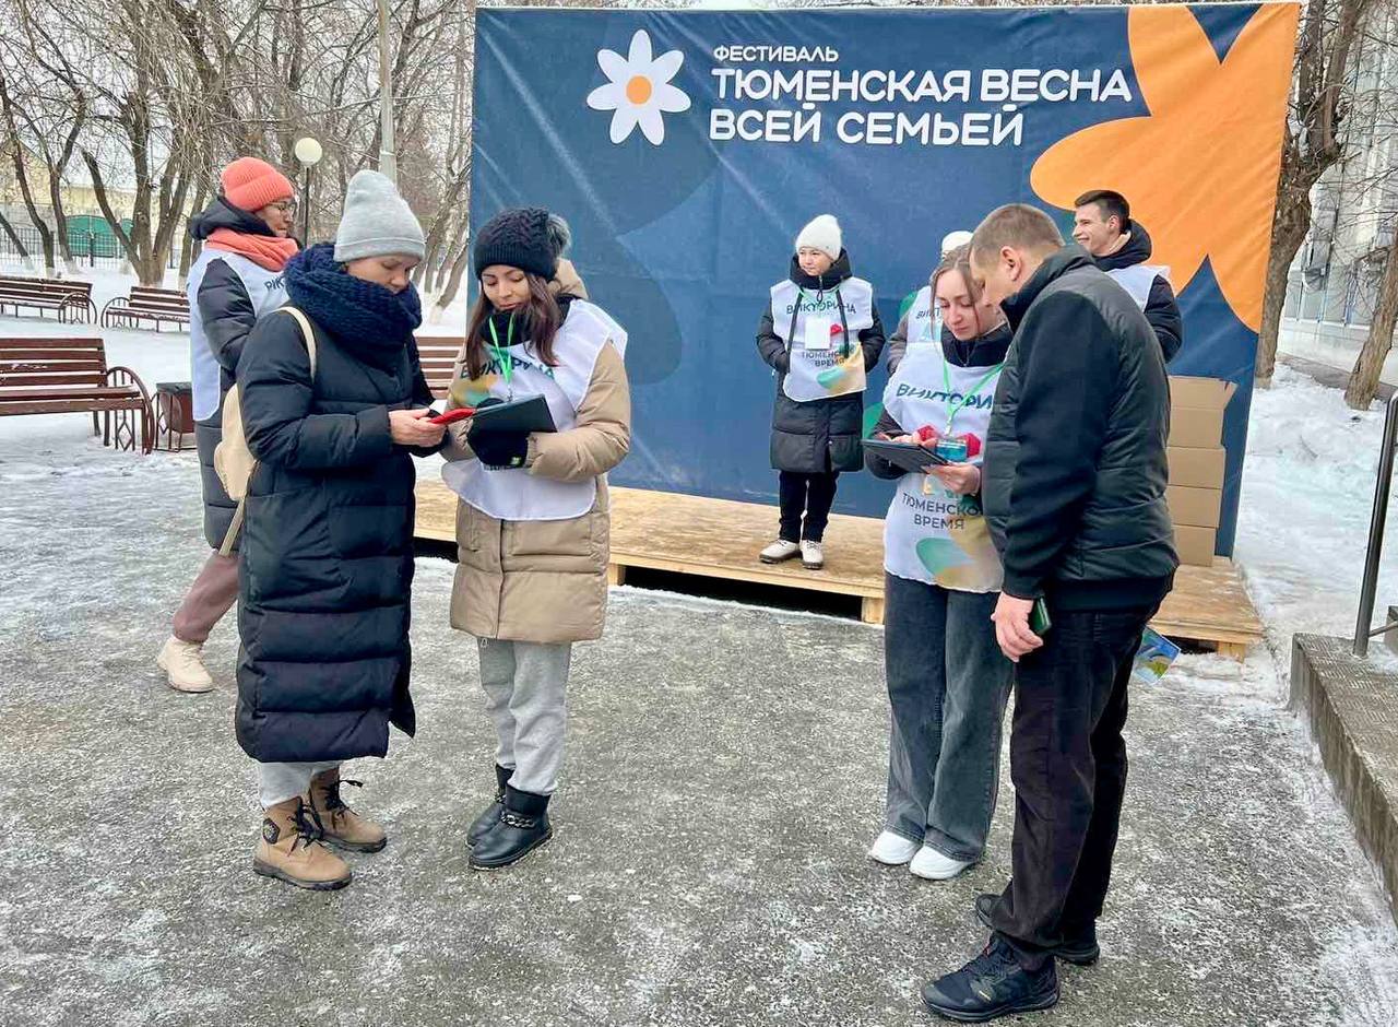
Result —
<instances>
[{"instance_id":1,"label":"woman in long navy puffer coat and light grey knit hat","mask_svg":"<svg viewBox=\"0 0 1398 1027\"><path fill-rule=\"evenodd\" d=\"M340 799L340 761L412 735L410 453L443 430L425 407L408 281L422 229L393 183L361 172L336 245L287 266L289 308L257 323L238 364L247 446L240 548L238 742L260 761L254 869L334 888L350 869L320 842L375 852L386 837ZM303 329L315 334L312 371Z\"/></svg>"}]
</instances>

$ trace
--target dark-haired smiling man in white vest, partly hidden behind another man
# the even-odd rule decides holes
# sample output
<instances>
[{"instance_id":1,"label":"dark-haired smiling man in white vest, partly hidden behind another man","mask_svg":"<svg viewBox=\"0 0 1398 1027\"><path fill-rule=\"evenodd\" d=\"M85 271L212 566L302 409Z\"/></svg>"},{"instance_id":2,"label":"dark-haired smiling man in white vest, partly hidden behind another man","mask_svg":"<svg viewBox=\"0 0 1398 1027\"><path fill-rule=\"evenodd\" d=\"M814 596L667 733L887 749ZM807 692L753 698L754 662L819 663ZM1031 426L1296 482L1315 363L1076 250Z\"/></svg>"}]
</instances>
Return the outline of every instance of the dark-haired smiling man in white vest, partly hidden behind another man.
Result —
<instances>
[{"instance_id":1,"label":"dark-haired smiling man in white vest, partly hidden behind another man","mask_svg":"<svg viewBox=\"0 0 1398 1027\"><path fill-rule=\"evenodd\" d=\"M1170 269L1146 263L1153 249L1151 234L1131 220L1127 197L1110 189L1083 193L1074 206L1078 213L1074 215L1072 238L1145 311L1145 319L1155 329L1169 364L1184 340L1184 322L1170 288Z\"/></svg>"}]
</instances>

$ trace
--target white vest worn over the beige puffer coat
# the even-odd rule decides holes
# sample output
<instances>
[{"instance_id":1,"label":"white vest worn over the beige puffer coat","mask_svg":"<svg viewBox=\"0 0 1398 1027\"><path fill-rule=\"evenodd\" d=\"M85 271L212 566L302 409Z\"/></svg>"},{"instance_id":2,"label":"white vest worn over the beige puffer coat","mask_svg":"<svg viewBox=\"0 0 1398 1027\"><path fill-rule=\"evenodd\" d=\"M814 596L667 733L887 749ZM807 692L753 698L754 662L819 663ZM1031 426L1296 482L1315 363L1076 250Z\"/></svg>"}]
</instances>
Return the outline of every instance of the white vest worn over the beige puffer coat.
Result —
<instances>
[{"instance_id":1,"label":"white vest worn over the beige puffer coat","mask_svg":"<svg viewBox=\"0 0 1398 1027\"><path fill-rule=\"evenodd\" d=\"M593 369L603 347L611 344L626 355L626 332L605 311L575 299L554 340L558 367L545 367L527 353L523 343L510 346L506 383L500 364L492 360L485 375L471 383L475 402L493 396L500 400L544 396L554 427L577 427L577 409L587 396ZM466 375L466 369L461 371ZM530 474L527 467L488 470L480 460L456 460L442 469L442 480L475 509L496 520L570 520L587 514L597 501L597 480L554 481Z\"/></svg>"}]
</instances>

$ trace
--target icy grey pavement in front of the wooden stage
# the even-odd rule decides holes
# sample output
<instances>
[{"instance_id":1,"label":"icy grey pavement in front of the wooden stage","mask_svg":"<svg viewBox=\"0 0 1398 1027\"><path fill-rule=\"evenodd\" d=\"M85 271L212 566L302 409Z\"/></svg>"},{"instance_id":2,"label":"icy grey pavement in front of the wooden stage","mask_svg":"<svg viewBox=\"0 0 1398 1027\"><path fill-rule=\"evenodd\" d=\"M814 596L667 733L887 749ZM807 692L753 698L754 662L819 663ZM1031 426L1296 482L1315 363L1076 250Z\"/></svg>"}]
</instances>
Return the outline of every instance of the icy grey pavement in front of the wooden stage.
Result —
<instances>
[{"instance_id":1,"label":"icy grey pavement in front of the wooden stage","mask_svg":"<svg viewBox=\"0 0 1398 1027\"><path fill-rule=\"evenodd\" d=\"M145 374L183 346L144 336L123 358ZM1274 395L1323 427L1325 396L1302 385ZM113 453L85 431L81 416L0 421L6 1027L895 1027L928 1023L918 984L981 943L970 904L1009 870L1008 772L965 877L864 858L886 758L881 632L628 589L577 653L556 840L473 873L463 835L489 798L491 739L435 560L414 595L419 736L351 768L389 848L354 856L355 883L331 895L253 876L232 623L208 646L214 694L178 695L154 669L204 555L194 459ZM1296 473L1275 459L1250 456L1260 511ZM1346 481L1306 495L1352 526L1369 500L1355 515L1364 490ZM1345 547L1267 547L1258 509L1250 585L1276 631L1310 625L1307 568ZM1318 523L1295 497L1286 509ZM1398 1021L1398 930L1281 694L1265 649L1186 658L1135 693L1103 961L1064 972L1061 1006L1035 1020Z\"/></svg>"}]
</instances>

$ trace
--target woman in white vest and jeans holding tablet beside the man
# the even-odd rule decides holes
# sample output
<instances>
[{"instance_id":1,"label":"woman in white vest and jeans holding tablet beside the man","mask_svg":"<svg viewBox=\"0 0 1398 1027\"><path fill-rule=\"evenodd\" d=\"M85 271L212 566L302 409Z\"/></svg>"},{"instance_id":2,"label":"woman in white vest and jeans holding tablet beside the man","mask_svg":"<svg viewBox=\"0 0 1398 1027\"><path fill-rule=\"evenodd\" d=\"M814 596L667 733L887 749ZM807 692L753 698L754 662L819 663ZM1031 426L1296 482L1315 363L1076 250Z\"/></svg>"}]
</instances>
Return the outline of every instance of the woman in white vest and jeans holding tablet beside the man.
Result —
<instances>
[{"instance_id":1,"label":"woman in white vest and jeans holding tablet beside the man","mask_svg":"<svg viewBox=\"0 0 1398 1027\"><path fill-rule=\"evenodd\" d=\"M949 463L905 474L868 456L874 474L898 480L884 527L888 809L870 856L946 880L986 848L1012 679L990 620L1004 574L979 502L1011 333L976 292L966 246L942 257L917 302L937 304L942 337L909 339L877 431Z\"/></svg>"}]
</instances>

